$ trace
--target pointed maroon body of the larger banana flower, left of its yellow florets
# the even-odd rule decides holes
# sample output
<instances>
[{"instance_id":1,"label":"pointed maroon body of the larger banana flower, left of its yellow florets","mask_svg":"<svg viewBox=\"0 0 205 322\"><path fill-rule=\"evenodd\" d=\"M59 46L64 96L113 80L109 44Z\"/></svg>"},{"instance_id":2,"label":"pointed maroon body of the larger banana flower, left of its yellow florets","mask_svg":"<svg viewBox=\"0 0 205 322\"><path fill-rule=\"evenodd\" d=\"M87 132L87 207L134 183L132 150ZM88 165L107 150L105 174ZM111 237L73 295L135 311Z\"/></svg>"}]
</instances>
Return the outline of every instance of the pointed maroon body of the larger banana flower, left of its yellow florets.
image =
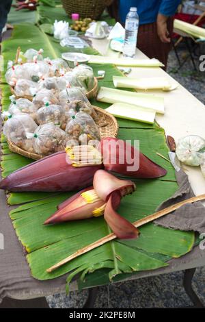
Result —
<instances>
[{"instance_id":1,"label":"pointed maroon body of the larger banana flower, left of its yellow florets","mask_svg":"<svg viewBox=\"0 0 205 322\"><path fill-rule=\"evenodd\" d=\"M90 186L94 173L102 165L74 168L66 162L66 153L57 152L14 171L0 182L9 191L74 191Z\"/></svg>"}]
</instances>

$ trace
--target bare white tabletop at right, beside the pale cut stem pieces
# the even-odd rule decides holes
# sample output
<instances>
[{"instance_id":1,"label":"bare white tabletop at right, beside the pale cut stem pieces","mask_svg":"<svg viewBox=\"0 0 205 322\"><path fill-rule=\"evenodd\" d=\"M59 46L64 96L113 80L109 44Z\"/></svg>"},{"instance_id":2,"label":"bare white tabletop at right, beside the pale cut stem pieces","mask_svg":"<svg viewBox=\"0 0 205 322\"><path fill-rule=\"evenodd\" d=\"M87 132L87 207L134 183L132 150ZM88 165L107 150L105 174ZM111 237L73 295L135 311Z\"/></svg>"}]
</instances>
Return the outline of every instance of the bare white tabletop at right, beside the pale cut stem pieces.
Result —
<instances>
[{"instance_id":1,"label":"bare white tabletop at right, beside the pale cut stem pieces","mask_svg":"<svg viewBox=\"0 0 205 322\"><path fill-rule=\"evenodd\" d=\"M108 41L92 39L92 45L102 55L106 54ZM146 59L139 49L136 51L136 58ZM128 77L167 77L176 82L161 68L132 68ZM165 129L166 135L175 138L176 143L182 136L195 134L205 138L205 106L191 92L186 90L178 82L178 88L172 92L152 90L152 94L157 94L165 98L165 114L156 114L156 121ZM137 90L137 92L140 92ZM142 92L142 91L141 91ZM205 88L204 88L205 92ZM189 182L195 195L205 193L205 178L202 176L200 167L182 166L184 172L189 176ZM204 203L205 205L205 203Z\"/></svg>"}]
</instances>

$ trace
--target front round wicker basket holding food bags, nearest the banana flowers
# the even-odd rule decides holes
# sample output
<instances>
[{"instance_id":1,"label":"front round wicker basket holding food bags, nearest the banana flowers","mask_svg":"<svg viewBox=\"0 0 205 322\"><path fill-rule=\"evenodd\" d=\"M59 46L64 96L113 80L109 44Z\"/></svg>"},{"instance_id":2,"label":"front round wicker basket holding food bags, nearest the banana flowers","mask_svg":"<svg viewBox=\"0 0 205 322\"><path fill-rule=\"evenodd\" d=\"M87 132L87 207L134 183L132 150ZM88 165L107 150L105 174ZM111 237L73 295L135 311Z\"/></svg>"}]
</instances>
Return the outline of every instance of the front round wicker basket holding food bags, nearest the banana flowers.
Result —
<instances>
[{"instance_id":1,"label":"front round wicker basket holding food bags, nearest the banana flowers","mask_svg":"<svg viewBox=\"0 0 205 322\"><path fill-rule=\"evenodd\" d=\"M102 108L97 108L93 106L96 114L98 115L98 121L96 121L96 125L100 131L101 138L113 137L115 138L118 135L118 122L116 121L115 117ZM33 160L40 160L46 156L40 156L36 153L30 153L20 147L17 147L11 140L8 139L8 146L10 151L14 153L20 154L20 156L25 156L26 158L33 159Z\"/></svg>"}]
</instances>

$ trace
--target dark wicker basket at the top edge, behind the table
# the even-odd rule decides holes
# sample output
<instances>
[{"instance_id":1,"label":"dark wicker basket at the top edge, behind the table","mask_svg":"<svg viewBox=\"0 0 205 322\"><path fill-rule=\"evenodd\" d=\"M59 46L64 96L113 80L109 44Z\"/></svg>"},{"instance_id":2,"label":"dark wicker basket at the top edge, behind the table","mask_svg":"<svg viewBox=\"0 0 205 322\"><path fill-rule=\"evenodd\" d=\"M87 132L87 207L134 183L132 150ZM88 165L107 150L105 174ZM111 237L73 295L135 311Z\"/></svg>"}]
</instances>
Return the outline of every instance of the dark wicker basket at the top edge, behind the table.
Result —
<instances>
[{"instance_id":1,"label":"dark wicker basket at the top edge, behind the table","mask_svg":"<svg viewBox=\"0 0 205 322\"><path fill-rule=\"evenodd\" d=\"M77 13L80 18L100 18L107 5L111 5L113 0L62 0L66 14L70 17L72 13Z\"/></svg>"}]
</instances>

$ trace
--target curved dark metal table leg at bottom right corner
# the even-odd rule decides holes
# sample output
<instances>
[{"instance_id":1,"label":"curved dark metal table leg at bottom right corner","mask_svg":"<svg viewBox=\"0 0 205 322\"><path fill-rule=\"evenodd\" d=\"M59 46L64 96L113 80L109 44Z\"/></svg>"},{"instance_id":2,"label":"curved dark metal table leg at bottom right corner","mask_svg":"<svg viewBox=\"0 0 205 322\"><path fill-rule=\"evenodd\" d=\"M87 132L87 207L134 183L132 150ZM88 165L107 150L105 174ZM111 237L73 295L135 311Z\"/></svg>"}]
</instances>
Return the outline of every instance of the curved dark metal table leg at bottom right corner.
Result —
<instances>
[{"instance_id":1,"label":"curved dark metal table leg at bottom right corner","mask_svg":"<svg viewBox=\"0 0 205 322\"><path fill-rule=\"evenodd\" d=\"M195 273L196 269L187 269L184 271L184 280L183 280L183 286L184 290L193 302L193 306L190 306L190 308L204 308L204 305L202 304L202 301L200 301L199 297L197 297L195 291L192 287L192 279L193 275Z\"/></svg>"}]
</instances>

